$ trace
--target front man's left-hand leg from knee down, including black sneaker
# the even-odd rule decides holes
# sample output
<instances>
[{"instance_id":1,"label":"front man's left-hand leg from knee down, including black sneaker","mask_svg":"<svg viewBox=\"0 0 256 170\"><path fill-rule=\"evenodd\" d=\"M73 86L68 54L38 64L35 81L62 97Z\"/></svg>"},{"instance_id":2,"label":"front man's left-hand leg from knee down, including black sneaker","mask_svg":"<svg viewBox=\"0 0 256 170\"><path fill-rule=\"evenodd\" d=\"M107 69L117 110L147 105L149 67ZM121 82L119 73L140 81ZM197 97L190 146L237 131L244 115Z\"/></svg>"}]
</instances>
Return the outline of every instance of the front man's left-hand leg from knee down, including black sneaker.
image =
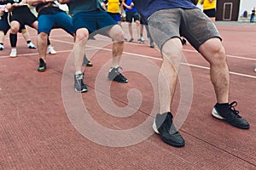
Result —
<instances>
[{"instance_id":1,"label":"front man's left-hand leg from knee down, including black sneaker","mask_svg":"<svg viewBox=\"0 0 256 170\"><path fill-rule=\"evenodd\" d=\"M164 43L161 53L163 63L158 77L160 113L154 119L153 129L160 138L175 147L183 147L183 137L177 132L173 123L171 104L177 84L177 73L182 54L182 43L179 38L172 38Z\"/></svg>"}]
</instances>

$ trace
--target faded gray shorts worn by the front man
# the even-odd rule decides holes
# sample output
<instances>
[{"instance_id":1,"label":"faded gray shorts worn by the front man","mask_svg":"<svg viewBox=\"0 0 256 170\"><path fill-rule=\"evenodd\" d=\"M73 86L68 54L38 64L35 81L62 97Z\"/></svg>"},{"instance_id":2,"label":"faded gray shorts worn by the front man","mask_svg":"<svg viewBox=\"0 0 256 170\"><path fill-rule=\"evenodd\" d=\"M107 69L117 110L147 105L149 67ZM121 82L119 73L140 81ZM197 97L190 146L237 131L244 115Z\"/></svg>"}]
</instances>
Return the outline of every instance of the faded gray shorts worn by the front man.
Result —
<instances>
[{"instance_id":1,"label":"faded gray shorts worn by the front man","mask_svg":"<svg viewBox=\"0 0 256 170\"><path fill-rule=\"evenodd\" d=\"M216 26L199 8L172 8L155 12L148 18L148 26L154 42L161 49L172 37L185 37L198 50L203 42L221 37Z\"/></svg>"}]
</instances>

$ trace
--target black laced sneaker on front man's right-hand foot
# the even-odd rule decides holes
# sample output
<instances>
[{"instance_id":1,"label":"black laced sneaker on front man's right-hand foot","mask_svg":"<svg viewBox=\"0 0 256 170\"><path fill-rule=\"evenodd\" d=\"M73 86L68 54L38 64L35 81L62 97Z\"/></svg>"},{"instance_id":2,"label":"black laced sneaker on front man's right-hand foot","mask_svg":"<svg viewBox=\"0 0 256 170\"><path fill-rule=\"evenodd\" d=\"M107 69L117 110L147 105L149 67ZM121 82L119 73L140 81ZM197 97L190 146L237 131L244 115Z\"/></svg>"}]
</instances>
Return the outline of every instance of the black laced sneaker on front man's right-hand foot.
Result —
<instances>
[{"instance_id":1,"label":"black laced sneaker on front man's right-hand foot","mask_svg":"<svg viewBox=\"0 0 256 170\"><path fill-rule=\"evenodd\" d=\"M239 127L242 129L247 129L250 127L247 120L239 116L239 111L236 111L235 106L236 101L230 104L216 104L212 110L212 116L225 122L230 123L234 127Z\"/></svg>"}]
</instances>

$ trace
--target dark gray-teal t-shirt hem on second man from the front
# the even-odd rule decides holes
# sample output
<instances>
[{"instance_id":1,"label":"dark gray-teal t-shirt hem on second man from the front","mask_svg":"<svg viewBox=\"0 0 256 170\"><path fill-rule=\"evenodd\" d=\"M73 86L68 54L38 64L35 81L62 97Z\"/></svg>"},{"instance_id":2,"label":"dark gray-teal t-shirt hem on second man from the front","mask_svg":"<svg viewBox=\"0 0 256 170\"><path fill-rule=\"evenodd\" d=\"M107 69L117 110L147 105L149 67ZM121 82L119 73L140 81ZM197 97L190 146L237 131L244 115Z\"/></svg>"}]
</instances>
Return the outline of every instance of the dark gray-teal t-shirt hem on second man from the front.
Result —
<instances>
[{"instance_id":1,"label":"dark gray-teal t-shirt hem on second man from the front","mask_svg":"<svg viewBox=\"0 0 256 170\"><path fill-rule=\"evenodd\" d=\"M102 8L102 0L72 0L67 6L69 8L69 14L72 16L80 12L104 11Z\"/></svg>"}]
</instances>

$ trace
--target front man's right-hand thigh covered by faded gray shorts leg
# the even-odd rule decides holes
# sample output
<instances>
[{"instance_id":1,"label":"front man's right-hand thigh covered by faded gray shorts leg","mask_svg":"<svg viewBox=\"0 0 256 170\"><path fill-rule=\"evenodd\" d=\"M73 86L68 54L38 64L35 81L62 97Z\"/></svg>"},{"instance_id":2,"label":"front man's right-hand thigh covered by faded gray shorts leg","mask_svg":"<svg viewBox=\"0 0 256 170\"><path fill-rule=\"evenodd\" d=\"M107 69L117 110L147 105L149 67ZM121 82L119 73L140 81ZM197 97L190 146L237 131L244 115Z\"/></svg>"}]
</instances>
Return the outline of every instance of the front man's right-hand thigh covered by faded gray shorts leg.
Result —
<instances>
[{"instance_id":1,"label":"front man's right-hand thigh covered by faded gray shorts leg","mask_svg":"<svg viewBox=\"0 0 256 170\"><path fill-rule=\"evenodd\" d=\"M212 20L200 9L183 9L182 16L181 35L186 37L196 50L199 50L201 44L212 37L221 39Z\"/></svg>"}]
</instances>

